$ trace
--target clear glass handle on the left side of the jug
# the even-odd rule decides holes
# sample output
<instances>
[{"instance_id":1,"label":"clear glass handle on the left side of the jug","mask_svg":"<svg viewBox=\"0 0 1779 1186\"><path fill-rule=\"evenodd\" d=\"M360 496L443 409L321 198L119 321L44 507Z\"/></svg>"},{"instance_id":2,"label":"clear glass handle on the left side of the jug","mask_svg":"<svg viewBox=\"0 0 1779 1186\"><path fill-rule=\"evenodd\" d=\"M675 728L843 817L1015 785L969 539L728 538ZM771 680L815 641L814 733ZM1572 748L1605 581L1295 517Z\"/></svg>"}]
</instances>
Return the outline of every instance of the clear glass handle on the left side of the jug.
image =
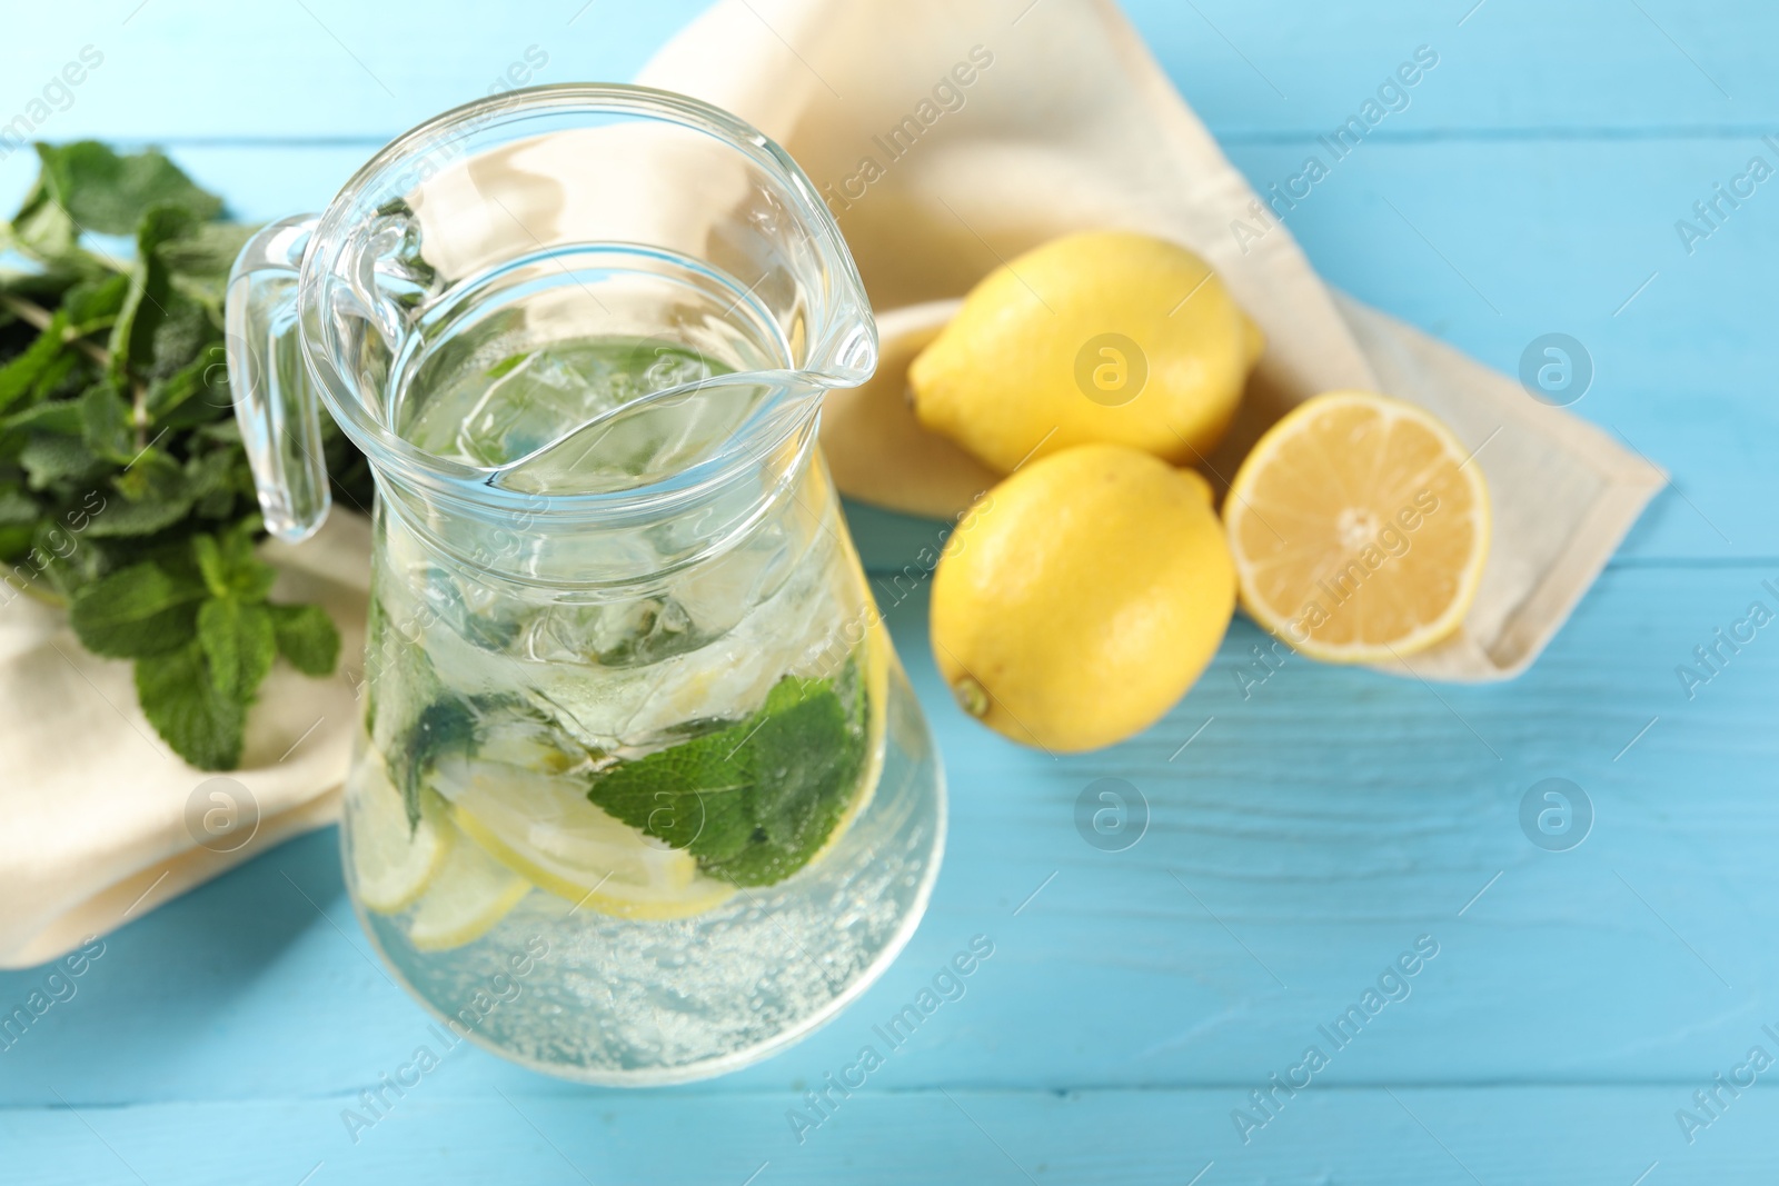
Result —
<instances>
[{"instance_id":1,"label":"clear glass handle on the left side of the jug","mask_svg":"<svg viewBox=\"0 0 1779 1186\"><path fill-rule=\"evenodd\" d=\"M327 517L320 400L302 357L297 276L318 215L272 222L247 240L228 279L228 382L265 528L297 544Z\"/></svg>"}]
</instances>

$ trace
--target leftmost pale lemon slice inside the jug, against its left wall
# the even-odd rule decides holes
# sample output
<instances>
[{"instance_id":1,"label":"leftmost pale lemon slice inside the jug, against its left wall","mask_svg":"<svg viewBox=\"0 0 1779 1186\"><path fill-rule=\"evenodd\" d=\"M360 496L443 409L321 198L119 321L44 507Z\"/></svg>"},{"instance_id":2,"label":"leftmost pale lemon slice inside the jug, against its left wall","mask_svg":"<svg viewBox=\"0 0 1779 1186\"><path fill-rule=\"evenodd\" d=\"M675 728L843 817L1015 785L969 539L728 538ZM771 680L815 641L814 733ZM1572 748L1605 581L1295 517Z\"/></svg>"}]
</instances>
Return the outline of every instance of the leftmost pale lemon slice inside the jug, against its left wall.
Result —
<instances>
[{"instance_id":1,"label":"leftmost pale lemon slice inside the jug, against its left wall","mask_svg":"<svg viewBox=\"0 0 1779 1186\"><path fill-rule=\"evenodd\" d=\"M450 852L452 829L438 795L420 798L420 823L407 825L402 793L382 759L368 752L347 781L345 809L352 837L358 900L379 914L406 910L425 893Z\"/></svg>"}]
</instances>

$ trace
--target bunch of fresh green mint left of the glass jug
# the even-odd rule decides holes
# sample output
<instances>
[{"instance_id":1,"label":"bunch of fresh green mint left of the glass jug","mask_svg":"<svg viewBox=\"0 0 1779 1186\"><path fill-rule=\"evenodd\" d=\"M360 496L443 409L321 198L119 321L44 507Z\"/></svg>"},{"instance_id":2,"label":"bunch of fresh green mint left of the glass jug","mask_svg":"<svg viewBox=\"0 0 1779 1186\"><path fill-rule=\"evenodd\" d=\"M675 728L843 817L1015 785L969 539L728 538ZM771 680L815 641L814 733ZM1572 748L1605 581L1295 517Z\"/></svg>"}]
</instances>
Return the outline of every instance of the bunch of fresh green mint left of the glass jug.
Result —
<instances>
[{"instance_id":1,"label":"bunch of fresh green mint left of the glass jug","mask_svg":"<svg viewBox=\"0 0 1779 1186\"><path fill-rule=\"evenodd\" d=\"M157 151L37 156L0 226L0 612L20 594L66 605L82 645L135 661L167 745L231 770L274 660L327 676L340 654L320 606L267 599L254 555L222 352L228 270L254 228ZM336 489L368 505L363 459L327 430Z\"/></svg>"}]
</instances>

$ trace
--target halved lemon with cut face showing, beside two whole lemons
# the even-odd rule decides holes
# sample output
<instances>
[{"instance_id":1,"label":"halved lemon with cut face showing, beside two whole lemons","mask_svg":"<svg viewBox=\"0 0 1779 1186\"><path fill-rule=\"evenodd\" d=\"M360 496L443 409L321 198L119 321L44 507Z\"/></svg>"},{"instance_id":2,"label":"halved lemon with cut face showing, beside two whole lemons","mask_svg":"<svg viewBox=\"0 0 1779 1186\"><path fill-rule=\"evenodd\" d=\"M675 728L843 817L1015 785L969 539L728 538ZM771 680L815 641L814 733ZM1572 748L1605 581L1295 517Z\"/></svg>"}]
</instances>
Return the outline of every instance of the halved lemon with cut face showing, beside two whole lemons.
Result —
<instances>
[{"instance_id":1,"label":"halved lemon with cut face showing, beside two whole lemons","mask_svg":"<svg viewBox=\"0 0 1779 1186\"><path fill-rule=\"evenodd\" d=\"M1224 523L1242 606L1329 663L1450 637L1489 557L1482 468L1437 418L1372 391L1329 391L1276 423Z\"/></svg>"}]
</instances>

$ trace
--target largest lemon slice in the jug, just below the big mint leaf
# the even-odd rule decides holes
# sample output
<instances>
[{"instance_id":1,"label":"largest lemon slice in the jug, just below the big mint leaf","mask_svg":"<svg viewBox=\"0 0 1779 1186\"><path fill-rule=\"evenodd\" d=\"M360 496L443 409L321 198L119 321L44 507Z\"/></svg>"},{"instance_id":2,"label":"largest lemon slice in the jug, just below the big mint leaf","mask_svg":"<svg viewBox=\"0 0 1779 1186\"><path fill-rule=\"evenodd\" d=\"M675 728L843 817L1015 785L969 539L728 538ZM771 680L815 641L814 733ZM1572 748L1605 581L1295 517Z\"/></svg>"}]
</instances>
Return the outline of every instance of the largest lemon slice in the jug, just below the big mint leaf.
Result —
<instances>
[{"instance_id":1,"label":"largest lemon slice in the jug, just below the big mint leaf","mask_svg":"<svg viewBox=\"0 0 1779 1186\"><path fill-rule=\"evenodd\" d=\"M614 820L585 779L491 761L441 763L434 784L452 820L502 866L576 907L640 919L701 914L735 887L692 853Z\"/></svg>"}]
</instances>

